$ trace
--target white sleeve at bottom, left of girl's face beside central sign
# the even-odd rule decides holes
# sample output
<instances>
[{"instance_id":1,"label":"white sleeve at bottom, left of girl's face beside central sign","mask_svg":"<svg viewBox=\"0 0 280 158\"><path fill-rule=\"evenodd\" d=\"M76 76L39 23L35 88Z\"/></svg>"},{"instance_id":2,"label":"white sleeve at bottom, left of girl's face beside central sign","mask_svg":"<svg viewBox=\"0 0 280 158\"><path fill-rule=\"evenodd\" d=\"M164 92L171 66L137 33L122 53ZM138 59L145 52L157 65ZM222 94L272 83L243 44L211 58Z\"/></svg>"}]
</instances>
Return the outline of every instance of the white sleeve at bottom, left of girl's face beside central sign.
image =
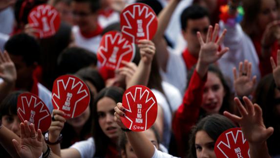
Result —
<instances>
[{"instance_id":1,"label":"white sleeve at bottom, left of girl's face beside central sign","mask_svg":"<svg viewBox=\"0 0 280 158\"><path fill-rule=\"evenodd\" d=\"M81 158L93 158L95 154L95 144L93 137L88 138L84 141L79 141L70 146L79 151Z\"/></svg>"}]
</instances>

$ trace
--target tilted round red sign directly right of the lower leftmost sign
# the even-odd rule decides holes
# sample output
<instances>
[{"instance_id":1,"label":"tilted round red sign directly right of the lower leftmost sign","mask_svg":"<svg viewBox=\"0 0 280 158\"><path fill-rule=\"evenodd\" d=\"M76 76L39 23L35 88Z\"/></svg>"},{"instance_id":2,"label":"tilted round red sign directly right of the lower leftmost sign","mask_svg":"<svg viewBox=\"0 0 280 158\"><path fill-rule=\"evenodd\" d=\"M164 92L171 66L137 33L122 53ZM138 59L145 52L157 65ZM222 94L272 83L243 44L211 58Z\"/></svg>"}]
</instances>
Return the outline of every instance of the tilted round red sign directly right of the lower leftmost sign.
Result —
<instances>
[{"instance_id":1,"label":"tilted round red sign directly right of the lower leftmost sign","mask_svg":"<svg viewBox=\"0 0 280 158\"><path fill-rule=\"evenodd\" d=\"M52 104L54 109L65 112L65 118L79 116L86 110L89 100L89 90L78 77L63 75L54 81Z\"/></svg>"}]
</instances>

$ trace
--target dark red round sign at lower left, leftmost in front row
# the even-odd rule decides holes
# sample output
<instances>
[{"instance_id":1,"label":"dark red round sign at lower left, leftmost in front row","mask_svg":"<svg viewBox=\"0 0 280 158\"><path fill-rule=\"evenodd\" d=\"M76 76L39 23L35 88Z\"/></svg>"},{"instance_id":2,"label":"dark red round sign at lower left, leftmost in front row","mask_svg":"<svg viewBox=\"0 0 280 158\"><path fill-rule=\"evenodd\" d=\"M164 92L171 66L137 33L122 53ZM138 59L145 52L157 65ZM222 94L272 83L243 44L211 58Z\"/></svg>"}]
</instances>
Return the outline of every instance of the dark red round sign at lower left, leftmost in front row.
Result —
<instances>
[{"instance_id":1,"label":"dark red round sign at lower left, leftmost in front row","mask_svg":"<svg viewBox=\"0 0 280 158\"><path fill-rule=\"evenodd\" d=\"M51 124L51 115L43 101L31 93L22 93L18 97L17 114L21 121L27 120L33 123L35 130L41 129L42 132L48 130Z\"/></svg>"}]
</instances>

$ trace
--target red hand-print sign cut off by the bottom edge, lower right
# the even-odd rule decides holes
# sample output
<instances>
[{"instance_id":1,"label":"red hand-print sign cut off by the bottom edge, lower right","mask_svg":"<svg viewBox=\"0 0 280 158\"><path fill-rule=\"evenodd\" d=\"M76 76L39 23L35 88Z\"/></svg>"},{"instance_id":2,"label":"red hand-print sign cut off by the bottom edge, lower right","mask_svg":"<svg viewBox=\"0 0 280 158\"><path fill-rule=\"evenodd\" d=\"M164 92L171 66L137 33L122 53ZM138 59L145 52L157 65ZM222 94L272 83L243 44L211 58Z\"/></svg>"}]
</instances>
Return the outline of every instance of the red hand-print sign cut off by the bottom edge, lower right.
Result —
<instances>
[{"instance_id":1,"label":"red hand-print sign cut off by the bottom edge, lower right","mask_svg":"<svg viewBox=\"0 0 280 158\"><path fill-rule=\"evenodd\" d=\"M241 128L232 128L223 132L215 143L217 158L250 158L249 144Z\"/></svg>"}]
</instances>

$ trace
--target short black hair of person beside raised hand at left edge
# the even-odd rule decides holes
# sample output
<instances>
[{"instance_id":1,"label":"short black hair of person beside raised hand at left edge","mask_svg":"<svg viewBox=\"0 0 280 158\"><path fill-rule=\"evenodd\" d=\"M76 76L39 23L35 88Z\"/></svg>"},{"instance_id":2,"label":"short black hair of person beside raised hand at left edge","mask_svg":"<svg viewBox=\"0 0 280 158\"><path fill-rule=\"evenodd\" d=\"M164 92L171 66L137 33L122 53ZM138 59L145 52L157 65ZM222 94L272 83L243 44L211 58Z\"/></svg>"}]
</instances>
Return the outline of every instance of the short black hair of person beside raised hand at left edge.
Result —
<instances>
[{"instance_id":1,"label":"short black hair of person beside raised hand at left edge","mask_svg":"<svg viewBox=\"0 0 280 158\"><path fill-rule=\"evenodd\" d=\"M27 66L32 66L39 61L40 45L35 38L25 34L12 36L4 45L9 54L22 56L23 62Z\"/></svg>"}]
</instances>

